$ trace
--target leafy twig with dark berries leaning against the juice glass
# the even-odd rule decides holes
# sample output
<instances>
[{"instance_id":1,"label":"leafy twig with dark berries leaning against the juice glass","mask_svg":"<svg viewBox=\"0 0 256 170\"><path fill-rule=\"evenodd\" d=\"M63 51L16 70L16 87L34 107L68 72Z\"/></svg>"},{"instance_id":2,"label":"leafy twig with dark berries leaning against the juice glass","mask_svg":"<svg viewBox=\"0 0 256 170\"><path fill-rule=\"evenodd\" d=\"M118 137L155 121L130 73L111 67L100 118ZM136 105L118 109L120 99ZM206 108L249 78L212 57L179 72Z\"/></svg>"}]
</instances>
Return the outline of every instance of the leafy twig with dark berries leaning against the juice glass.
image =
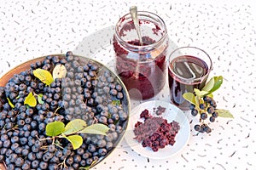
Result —
<instances>
[{"instance_id":1,"label":"leafy twig with dark berries leaning against the juice glass","mask_svg":"<svg viewBox=\"0 0 256 170\"><path fill-rule=\"evenodd\" d=\"M200 89L195 88L194 93L185 93L183 98L191 103L190 110L192 116L200 116L200 124L196 124L194 129L199 133L211 133L212 129L206 123L209 117L210 122L215 122L218 116L234 118L230 111L217 109L213 92L220 88L223 77L212 77L206 85Z\"/></svg>"}]
</instances>

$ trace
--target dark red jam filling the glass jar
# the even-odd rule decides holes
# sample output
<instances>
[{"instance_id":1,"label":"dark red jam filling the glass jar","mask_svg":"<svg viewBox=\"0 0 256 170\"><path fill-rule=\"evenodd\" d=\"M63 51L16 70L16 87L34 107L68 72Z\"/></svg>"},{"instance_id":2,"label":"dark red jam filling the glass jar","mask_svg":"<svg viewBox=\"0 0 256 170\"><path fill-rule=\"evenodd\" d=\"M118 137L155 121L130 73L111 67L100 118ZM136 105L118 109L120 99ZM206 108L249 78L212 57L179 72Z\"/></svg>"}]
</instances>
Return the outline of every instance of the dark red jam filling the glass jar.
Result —
<instances>
[{"instance_id":1,"label":"dark red jam filling the glass jar","mask_svg":"<svg viewBox=\"0 0 256 170\"><path fill-rule=\"evenodd\" d=\"M138 42L128 42L136 45ZM160 54L156 59L146 59L140 55L140 60L129 59L128 51L121 48L118 42L113 42L116 53L116 70L132 99L149 99L158 94L166 83L166 55ZM144 61L144 62L141 62ZM137 89L133 91L131 89Z\"/></svg>"}]
</instances>

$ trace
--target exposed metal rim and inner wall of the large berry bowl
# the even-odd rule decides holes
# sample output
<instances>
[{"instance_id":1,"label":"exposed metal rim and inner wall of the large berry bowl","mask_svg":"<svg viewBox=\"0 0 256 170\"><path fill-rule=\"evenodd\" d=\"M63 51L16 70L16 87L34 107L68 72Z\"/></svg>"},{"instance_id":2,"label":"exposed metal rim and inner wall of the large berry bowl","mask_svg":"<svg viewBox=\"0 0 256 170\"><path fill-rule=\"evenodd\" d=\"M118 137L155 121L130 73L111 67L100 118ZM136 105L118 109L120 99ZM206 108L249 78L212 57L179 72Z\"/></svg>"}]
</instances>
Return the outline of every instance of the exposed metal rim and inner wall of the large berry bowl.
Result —
<instances>
[{"instance_id":1,"label":"exposed metal rim and inner wall of the large berry bowl","mask_svg":"<svg viewBox=\"0 0 256 170\"><path fill-rule=\"evenodd\" d=\"M58 56L61 59L66 57L66 55L63 55L63 54L52 54L50 56ZM100 74L100 72L102 72L102 71L110 71L108 69L108 67L106 67L105 65L102 65L101 63L99 63L98 61L96 61L94 59L88 59L88 58L85 58L85 57L82 57L82 56L79 56L79 55L73 55L73 56L74 57L79 57L79 62L82 65L85 65L88 62L92 62L92 63L98 65L97 74ZM32 63L36 63L37 61L42 61L46 57L47 56L39 57L37 59L32 59L32 60L26 61L25 63L23 63L21 65L16 66L14 69L7 72L3 77L0 78L0 87L4 87L9 82L9 80L12 77L14 77L15 74L19 74L21 71L26 71L27 69L30 68ZM101 162L104 158L106 158L107 156L109 156L111 154L111 152L119 144L121 139L123 139L124 134L125 134L125 130L126 130L126 127L128 125L128 121L129 121L129 114L130 114L130 110L131 110L131 104L130 104L130 98L129 98L128 91L125 88L125 84L119 79L119 77L113 71L110 71L110 72L111 72L112 76L114 77L115 82L118 82L122 86L122 93L124 94L124 98L120 100L120 106L127 113L128 117L124 122L121 123L122 127L123 127L123 131L121 133L119 133L118 139L116 139L113 142L113 148L111 150L108 150L108 153L107 153L106 156L102 156L98 161L94 162L91 165L91 167L96 166L99 162ZM0 169L2 169L2 170L7 169L5 167L4 162L0 163Z\"/></svg>"}]
</instances>

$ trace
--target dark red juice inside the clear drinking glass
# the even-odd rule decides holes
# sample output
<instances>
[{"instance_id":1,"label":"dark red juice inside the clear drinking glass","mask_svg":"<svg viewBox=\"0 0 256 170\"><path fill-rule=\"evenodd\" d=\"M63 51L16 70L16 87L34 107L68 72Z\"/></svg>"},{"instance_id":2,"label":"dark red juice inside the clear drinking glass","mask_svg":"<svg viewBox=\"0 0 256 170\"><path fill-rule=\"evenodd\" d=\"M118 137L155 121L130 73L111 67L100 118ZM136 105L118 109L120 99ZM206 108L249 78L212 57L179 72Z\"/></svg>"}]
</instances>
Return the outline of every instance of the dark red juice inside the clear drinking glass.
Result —
<instances>
[{"instance_id":1,"label":"dark red juice inside the clear drinking glass","mask_svg":"<svg viewBox=\"0 0 256 170\"><path fill-rule=\"evenodd\" d=\"M172 103L183 110L187 110L190 104L183 99L183 94L186 92L193 93L194 88L201 89L207 81L208 72L207 63L198 57L181 55L172 59L168 68Z\"/></svg>"}]
</instances>

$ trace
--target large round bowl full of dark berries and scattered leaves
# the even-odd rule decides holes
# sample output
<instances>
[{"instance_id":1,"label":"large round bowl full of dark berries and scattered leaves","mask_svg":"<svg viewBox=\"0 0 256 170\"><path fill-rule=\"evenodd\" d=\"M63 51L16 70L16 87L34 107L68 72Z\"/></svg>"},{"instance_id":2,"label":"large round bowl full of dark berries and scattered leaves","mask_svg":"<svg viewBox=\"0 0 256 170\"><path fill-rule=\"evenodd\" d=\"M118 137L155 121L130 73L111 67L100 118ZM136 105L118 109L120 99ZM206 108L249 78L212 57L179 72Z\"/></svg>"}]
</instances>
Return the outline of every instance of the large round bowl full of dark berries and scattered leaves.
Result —
<instances>
[{"instance_id":1,"label":"large round bowl full of dark berries and scattered leaves","mask_svg":"<svg viewBox=\"0 0 256 170\"><path fill-rule=\"evenodd\" d=\"M0 80L1 169L89 169L124 136L129 94L93 59L48 55Z\"/></svg>"}]
</instances>

